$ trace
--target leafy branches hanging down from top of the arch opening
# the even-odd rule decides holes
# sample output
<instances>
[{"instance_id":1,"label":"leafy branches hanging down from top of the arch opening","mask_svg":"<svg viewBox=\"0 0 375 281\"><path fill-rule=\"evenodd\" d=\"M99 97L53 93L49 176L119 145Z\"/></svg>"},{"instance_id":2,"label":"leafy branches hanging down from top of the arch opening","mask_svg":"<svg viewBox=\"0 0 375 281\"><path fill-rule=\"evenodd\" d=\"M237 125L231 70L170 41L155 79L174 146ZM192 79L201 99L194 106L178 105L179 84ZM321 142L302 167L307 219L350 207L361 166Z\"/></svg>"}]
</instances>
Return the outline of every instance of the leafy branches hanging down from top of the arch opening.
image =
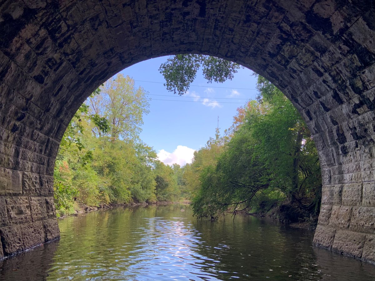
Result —
<instances>
[{"instance_id":1,"label":"leafy branches hanging down from top of the arch opening","mask_svg":"<svg viewBox=\"0 0 375 281\"><path fill-rule=\"evenodd\" d=\"M196 72L202 67L204 78L208 82L224 82L233 79L234 73L241 66L222 58L207 55L180 54L174 55L160 65L159 71L164 76L164 86L174 94L183 95L189 90L190 84L196 77Z\"/></svg>"}]
</instances>

